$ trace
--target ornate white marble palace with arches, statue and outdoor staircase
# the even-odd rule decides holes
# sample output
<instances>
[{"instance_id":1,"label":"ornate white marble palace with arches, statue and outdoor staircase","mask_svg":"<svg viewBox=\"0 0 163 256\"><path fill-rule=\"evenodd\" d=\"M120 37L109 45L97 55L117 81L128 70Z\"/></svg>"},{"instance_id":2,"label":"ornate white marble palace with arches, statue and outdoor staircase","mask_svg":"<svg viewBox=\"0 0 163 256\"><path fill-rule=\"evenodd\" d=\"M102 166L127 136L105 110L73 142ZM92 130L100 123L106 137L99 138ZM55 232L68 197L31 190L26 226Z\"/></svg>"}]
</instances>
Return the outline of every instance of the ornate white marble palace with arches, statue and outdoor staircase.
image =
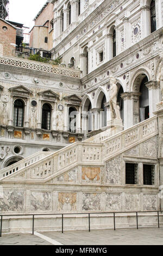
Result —
<instances>
[{"instance_id":1,"label":"ornate white marble palace with arches, statue and outdoor staircase","mask_svg":"<svg viewBox=\"0 0 163 256\"><path fill-rule=\"evenodd\" d=\"M30 47L59 65L0 45L3 213L163 209L162 25L162 0L52 0Z\"/></svg>"}]
</instances>

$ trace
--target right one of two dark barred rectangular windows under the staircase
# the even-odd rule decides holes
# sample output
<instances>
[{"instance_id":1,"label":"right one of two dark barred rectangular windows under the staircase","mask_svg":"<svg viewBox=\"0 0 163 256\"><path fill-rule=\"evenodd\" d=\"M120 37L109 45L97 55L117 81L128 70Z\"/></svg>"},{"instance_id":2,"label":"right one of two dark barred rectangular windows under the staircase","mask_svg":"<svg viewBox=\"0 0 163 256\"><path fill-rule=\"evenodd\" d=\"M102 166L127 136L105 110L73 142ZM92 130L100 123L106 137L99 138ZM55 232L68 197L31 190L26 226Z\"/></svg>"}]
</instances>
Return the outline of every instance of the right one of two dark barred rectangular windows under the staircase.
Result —
<instances>
[{"instance_id":1,"label":"right one of two dark barred rectangular windows under the staircase","mask_svg":"<svg viewBox=\"0 0 163 256\"><path fill-rule=\"evenodd\" d=\"M154 166L143 164L143 185L154 185Z\"/></svg>"}]
</instances>

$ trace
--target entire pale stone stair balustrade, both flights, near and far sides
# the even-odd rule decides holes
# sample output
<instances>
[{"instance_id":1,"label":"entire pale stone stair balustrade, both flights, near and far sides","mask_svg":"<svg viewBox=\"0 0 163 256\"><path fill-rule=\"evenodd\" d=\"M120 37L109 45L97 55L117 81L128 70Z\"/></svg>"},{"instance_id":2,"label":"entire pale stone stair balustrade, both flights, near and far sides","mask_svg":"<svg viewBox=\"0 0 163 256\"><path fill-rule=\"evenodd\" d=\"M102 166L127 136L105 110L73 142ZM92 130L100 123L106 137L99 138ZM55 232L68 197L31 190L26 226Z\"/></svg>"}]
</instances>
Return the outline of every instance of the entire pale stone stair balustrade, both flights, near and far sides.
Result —
<instances>
[{"instance_id":1,"label":"entire pale stone stair balustrade, both flights, near and far sides","mask_svg":"<svg viewBox=\"0 0 163 256\"><path fill-rule=\"evenodd\" d=\"M83 142L76 142L55 153L38 152L0 171L1 182L24 177L25 182L52 182L79 164L104 166L109 159L122 154L158 135L157 117L149 118L111 136L111 129Z\"/></svg>"}]
</instances>

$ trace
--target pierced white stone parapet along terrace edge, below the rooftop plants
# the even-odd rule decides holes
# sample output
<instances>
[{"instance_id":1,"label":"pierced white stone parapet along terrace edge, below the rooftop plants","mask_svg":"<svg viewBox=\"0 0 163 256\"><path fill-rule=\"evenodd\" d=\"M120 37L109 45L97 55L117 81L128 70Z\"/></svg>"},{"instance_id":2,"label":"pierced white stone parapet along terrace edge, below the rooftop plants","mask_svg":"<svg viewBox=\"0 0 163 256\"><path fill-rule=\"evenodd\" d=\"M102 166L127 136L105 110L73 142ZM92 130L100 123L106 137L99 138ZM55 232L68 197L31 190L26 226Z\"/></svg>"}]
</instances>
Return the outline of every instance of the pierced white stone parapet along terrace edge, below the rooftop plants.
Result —
<instances>
[{"instance_id":1,"label":"pierced white stone parapet along terrace edge, below the rooftop plants","mask_svg":"<svg viewBox=\"0 0 163 256\"><path fill-rule=\"evenodd\" d=\"M0 64L74 78L81 77L81 72L78 70L62 68L57 65L51 65L42 62L35 62L34 60L24 60L15 57L0 57Z\"/></svg>"}]
</instances>

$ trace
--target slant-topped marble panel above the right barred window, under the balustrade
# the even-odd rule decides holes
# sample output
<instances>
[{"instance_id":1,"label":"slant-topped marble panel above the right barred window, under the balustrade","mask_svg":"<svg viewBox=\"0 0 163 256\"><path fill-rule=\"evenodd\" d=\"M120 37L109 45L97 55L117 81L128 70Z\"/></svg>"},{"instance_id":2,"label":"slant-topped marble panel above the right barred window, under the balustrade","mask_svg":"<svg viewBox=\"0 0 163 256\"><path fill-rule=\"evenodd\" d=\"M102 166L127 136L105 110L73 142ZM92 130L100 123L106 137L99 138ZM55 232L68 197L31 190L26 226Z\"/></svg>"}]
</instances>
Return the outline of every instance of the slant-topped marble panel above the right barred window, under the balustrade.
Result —
<instances>
[{"instance_id":1,"label":"slant-topped marble panel above the right barred window, under the balustrade","mask_svg":"<svg viewBox=\"0 0 163 256\"><path fill-rule=\"evenodd\" d=\"M156 137L142 144L142 156L156 157Z\"/></svg>"}]
</instances>

